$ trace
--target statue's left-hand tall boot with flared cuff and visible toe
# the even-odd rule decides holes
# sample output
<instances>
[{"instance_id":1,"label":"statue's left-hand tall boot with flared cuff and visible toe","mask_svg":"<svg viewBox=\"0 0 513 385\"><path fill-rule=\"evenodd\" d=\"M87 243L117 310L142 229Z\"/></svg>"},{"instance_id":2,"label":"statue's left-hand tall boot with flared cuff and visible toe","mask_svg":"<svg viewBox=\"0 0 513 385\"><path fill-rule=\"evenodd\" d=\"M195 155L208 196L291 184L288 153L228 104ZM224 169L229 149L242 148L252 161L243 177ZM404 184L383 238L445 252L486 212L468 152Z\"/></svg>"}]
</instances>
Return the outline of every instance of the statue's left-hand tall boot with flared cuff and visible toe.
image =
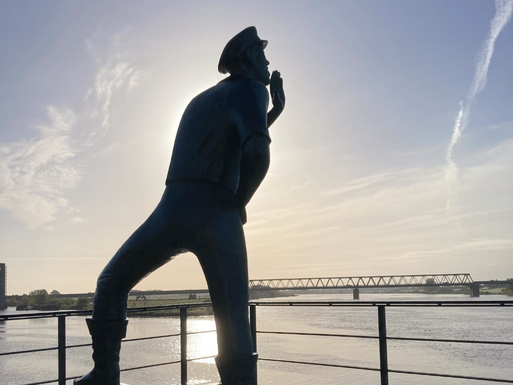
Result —
<instances>
[{"instance_id":1,"label":"statue's left-hand tall boot with flared cuff and visible toe","mask_svg":"<svg viewBox=\"0 0 513 385\"><path fill-rule=\"evenodd\" d=\"M94 368L75 385L120 385L121 340L126 337L128 319L105 321L87 318L93 340Z\"/></svg>"}]
</instances>

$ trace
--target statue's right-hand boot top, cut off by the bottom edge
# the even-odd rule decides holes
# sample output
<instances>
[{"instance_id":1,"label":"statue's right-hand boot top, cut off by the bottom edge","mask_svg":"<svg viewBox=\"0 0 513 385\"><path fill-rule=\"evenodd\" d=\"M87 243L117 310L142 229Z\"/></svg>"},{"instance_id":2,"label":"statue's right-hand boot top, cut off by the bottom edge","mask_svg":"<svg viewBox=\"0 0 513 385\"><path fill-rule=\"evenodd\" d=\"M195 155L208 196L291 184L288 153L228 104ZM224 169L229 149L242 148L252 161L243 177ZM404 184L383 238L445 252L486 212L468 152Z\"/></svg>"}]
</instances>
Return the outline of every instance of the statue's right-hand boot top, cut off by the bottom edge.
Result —
<instances>
[{"instance_id":1,"label":"statue's right-hand boot top, cut off by the bottom edge","mask_svg":"<svg viewBox=\"0 0 513 385\"><path fill-rule=\"evenodd\" d=\"M258 354L223 354L215 357L223 385L251 385Z\"/></svg>"}]
</instances>

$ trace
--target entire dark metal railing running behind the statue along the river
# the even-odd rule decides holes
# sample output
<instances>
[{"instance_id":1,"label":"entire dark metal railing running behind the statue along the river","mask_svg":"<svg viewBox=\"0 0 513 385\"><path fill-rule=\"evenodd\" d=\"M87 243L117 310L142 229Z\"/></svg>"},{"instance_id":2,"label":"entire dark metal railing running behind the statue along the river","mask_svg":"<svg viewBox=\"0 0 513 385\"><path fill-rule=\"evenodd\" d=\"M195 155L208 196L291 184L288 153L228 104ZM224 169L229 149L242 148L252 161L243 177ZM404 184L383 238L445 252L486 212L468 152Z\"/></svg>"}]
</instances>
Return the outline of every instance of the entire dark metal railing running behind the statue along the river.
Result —
<instances>
[{"instance_id":1,"label":"entire dark metal railing running behind the statue along the river","mask_svg":"<svg viewBox=\"0 0 513 385\"><path fill-rule=\"evenodd\" d=\"M156 363L150 365L144 365L141 367L126 368L123 371L146 369L162 365L169 365L180 363L181 367L181 385L187 383L187 363L189 361L195 361L206 358L213 358L214 356L207 357L195 357L187 358L187 336L191 334L211 333L214 330L201 331L201 332L188 332L187 331L187 309L193 307L208 307L210 303L190 303L180 305L165 305L165 306L147 306L147 307L136 307L129 309L129 313L134 312L148 312L148 311L160 311L160 310L180 310L180 333L163 335L163 336L152 336L144 338L126 339L123 342L139 341L155 338L165 337L180 337L181 340L181 352L180 360ZM257 330L257 307L259 306L366 306L366 307L377 307L378 309L378 335L350 335L350 334L322 334L322 333L298 333L298 332L278 332L278 331L259 331ZM249 318L251 326L251 337L253 341L253 350L257 352L257 334L283 334L283 335L295 335L295 336L320 336L320 337L338 337L338 338L370 338L379 340L379 351L380 351L380 367L370 368L361 367L355 365L344 365L344 364L330 364L322 362L306 362L297 360L287 360L279 358L266 358L259 357L260 361L274 361L284 362L293 364L307 364L317 365L322 367L333 367L333 368L345 368L355 370L366 370L380 372L381 374L381 385L388 385L388 374L389 373L400 373L400 374L412 374L421 376L435 376L435 377L447 377L447 378L458 378L458 379L470 379L478 381L490 381L490 382L503 382L513 383L513 379L501 379L501 378L489 378L489 377L477 377L477 376L465 376L457 374L444 374L444 373L429 373L429 372L416 372L398 369L388 368L388 355L387 355L387 341L388 340L402 340L402 341L430 341L430 342L457 342L457 343L472 343L472 344L499 344L499 345L513 345L513 341L482 341L482 340L463 340L463 339L441 339L441 338L409 338L409 337L388 337L386 330L386 307L391 306L431 306L431 307L448 307L448 306L459 306L459 307L491 307L491 306L513 306L513 301L286 301L286 302L250 302L249 303ZM43 385L46 383L58 382L59 385L65 385L66 380L79 378L80 376L66 377L66 350L72 348L88 347L91 344L80 344L80 345L66 345L66 317L70 316L85 316L91 315L91 311L61 311L61 312L42 312L36 314L14 314L14 315L0 315L0 321L2 320L16 320L16 319L34 319L34 318L57 318L57 347L44 348L44 349L33 349L24 351L15 351L0 353L1 356L43 352L50 350L58 351L58 378L40 382L32 382L24 385ZM257 385L257 375L253 379L253 385Z\"/></svg>"}]
</instances>

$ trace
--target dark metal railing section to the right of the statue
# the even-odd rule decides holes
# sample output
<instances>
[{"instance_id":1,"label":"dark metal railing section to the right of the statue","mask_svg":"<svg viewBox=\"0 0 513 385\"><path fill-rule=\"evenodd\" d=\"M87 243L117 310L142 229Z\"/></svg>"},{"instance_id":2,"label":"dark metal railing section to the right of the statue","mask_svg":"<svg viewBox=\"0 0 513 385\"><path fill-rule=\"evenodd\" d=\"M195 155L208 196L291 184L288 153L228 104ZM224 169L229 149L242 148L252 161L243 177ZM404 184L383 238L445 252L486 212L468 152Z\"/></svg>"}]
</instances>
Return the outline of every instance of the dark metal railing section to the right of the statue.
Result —
<instances>
[{"instance_id":1,"label":"dark metal railing section to the right of the statue","mask_svg":"<svg viewBox=\"0 0 513 385\"><path fill-rule=\"evenodd\" d=\"M351 335L351 334L322 334L322 333L295 333L295 332L275 332L275 331L259 331L257 330L257 306L366 306L378 308L378 335ZM478 381L490 382L504 382L513 383L513 379L477 377L477 376L463 376L457 374L444 374L444 373L429 373L429 372L415 372L407 370L396 370L388 368L388 354L387 354L387 341L388 340L402 340L402 341L430 341L430 342L457 342L457 343L482 343L482 344L498 344L498 345L513 345L513 341L480 341L480 340L463 340L463 339L441 339L441 338L408 338L408 337L388 337L386 333L386 312L385 308L390 306L460 306L460 307L491 307L491 306L513 306L513 301L286 301L286 302L251 302L250 303L250 321L251 321L251 334L253 336L253 348L257 351L257 334L283 334L283 335L297 335L297 336L322 336L322 337L343 337L343 338L371 338L379 340L380 350L380 367L369 368L354 365L343 364L329 364L322 362L305 362L297 360L286 360L277 358L259 357L261 361L273 362L287 362L294 364L317 365L332 368L345 368L357 369L380 372L381 385L388 385L388 373L400 374L415 374L421 376L434 376L446 378L459 378ZM253 385L257 385L256 378Z\"/></svg>"}]
</instances>

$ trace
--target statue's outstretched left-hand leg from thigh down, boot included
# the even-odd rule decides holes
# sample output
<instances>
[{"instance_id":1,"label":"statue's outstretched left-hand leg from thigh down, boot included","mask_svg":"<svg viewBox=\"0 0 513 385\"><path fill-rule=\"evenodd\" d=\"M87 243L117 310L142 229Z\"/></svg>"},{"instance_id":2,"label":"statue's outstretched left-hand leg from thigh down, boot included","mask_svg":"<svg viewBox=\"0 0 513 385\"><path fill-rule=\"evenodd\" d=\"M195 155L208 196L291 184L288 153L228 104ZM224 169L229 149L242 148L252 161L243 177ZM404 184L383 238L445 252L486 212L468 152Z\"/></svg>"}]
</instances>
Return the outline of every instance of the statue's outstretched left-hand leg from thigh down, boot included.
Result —
<instances>
[{"instance_id":1,"label":"statue's outstretched left-hand leg from thigh down, boot included","mask_svg":"<svg viewBox=\"0 0 513 385\"><path fill-rule=\"evenodd\" d=\"M119 360L121 340L126 336L128 323L128 292L180 251L165 203L163 198L98 277L93 316L86 320L93 342L94 368L75 380L77 385L120 384Z\"/></svg>"}]
</instances>

